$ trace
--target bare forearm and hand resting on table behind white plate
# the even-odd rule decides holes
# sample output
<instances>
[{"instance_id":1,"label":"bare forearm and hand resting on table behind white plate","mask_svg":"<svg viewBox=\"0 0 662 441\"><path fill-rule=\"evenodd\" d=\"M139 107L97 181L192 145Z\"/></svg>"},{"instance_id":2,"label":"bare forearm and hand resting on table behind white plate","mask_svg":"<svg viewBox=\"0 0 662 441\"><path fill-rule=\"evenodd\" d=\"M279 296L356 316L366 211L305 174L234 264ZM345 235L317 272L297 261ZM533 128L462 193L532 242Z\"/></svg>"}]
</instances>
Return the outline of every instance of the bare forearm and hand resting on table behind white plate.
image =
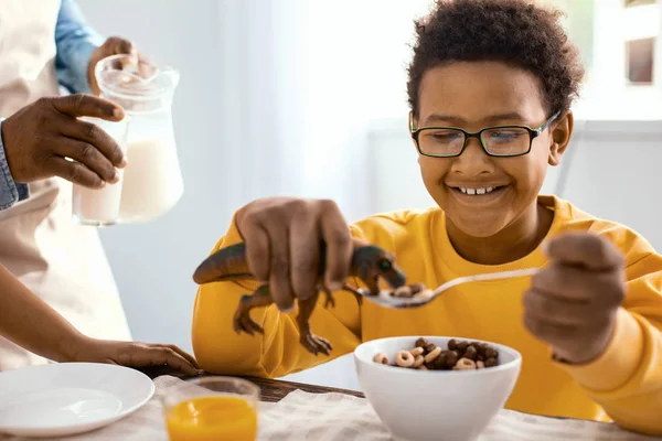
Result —
<instances>
[{"instance_id":1,"label":"bare forearm and hand resting on table behind white plate","mask_svg":"<svg viewBox=\"0 0 662 441\"><path fill-rule=\"evenodd\" d=\"M108 363L129 367L168 365L197 375L195 359L173 345L116 342L81 334L0 265L0 335L54 362Z\"/></svg>"}]
</instances>

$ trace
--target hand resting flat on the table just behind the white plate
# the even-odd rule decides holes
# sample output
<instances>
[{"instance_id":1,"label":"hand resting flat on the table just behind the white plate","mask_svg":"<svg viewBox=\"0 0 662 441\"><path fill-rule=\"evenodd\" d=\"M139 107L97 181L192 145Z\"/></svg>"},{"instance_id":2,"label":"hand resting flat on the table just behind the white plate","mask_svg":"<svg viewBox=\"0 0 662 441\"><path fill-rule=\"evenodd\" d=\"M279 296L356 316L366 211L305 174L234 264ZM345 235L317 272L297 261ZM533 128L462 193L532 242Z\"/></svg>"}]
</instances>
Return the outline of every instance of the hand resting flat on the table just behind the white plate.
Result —
<instances>
[{"instance_id":1,"label":"hand resting flat on the table just behind the white plate","mask_svg":"<svg viewBox=\"0 0 662 441\"><path fill-rule=\"evenodd\" d=\"M74 348L74 362L107 363L127 367L168 365L188 375L199 375L197 362L174 345L83 338Z\"/></svg>"}]
</instances>

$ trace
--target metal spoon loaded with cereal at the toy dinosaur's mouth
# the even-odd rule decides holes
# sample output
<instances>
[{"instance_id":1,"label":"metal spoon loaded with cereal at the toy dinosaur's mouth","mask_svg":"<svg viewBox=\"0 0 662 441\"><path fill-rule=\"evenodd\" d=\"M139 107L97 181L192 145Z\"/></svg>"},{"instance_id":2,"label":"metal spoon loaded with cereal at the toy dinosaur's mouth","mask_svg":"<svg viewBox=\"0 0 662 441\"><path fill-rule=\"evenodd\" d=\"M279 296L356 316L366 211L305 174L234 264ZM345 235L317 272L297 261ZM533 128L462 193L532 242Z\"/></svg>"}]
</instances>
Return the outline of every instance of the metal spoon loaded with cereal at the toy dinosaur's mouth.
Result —
<instances>
[{"instance_id":1,"label":"metal spoon loaded with cereal at the toy dinosaur's mouth","mask_svg":"<svg viewBox=\"0 0 662 441\"><path fill-rule=\"evenodd\" d=\"M436 290L423 290L419 293L414 294L413 297L395 297L392 295L388 290L382 290L377 295L373 295L369 290L364 288L357 289L357 293L365 297L373 303L385 308L395 308L395 309L405 309L405 308L417 308L423 306L435 300L437 295L441 294L444 291L457 287L458 284L476 282L481 280L495 280L495 279L509 279L513 277L525 277L533 276L538 271L538 268L524 268L516 269L512 271L500 271L500 272L487 272L481 275L458 277L456 279L449 280L446 283L442 283Z\"/></svg>"}]
</instances>

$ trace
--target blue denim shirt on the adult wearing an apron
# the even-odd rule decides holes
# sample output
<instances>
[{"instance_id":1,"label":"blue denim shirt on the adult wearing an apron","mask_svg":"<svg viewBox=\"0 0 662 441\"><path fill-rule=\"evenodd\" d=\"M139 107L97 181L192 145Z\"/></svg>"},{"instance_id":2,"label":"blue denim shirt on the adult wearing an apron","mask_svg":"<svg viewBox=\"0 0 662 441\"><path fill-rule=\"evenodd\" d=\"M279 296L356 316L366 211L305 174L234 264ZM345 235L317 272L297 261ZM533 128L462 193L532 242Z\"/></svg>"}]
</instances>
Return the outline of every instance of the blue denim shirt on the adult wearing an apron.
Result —
<instances>
[{"instance_id":1,"label":"blue denim shirt on the adult wearing an apron","mask_svg":"<svg viewBox=\"0 0 662 441\"><path fill-rule=\"evenodd\" d=\"M87 66L92 53L105 39L85 23L75 0L61 0L54 39L57 82L73 94L90 93ZM0 121L0 130L1 125ZM28 197L28 184L15 183L12 178L0 137L0 209L7 209Z\"/></svg>"}]
</instances>

